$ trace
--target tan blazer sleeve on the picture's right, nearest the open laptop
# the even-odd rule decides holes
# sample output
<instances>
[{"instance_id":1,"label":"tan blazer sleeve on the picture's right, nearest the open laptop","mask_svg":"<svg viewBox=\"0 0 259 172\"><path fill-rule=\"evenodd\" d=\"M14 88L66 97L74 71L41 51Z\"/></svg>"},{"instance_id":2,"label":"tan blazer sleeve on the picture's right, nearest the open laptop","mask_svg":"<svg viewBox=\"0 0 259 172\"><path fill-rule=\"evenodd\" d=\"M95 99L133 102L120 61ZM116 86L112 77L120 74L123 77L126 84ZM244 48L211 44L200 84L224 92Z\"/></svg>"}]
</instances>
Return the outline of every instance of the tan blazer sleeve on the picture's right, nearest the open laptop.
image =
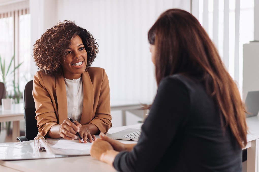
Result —
<instances>
[{"instance_id":1,"label":"tan blazer sleeve on the picture's right, nearest the open laptop","mask_svg":"<svg viewBox=\"0 0 259 172\"><path fill-rule=\"evenodd\" d=\"M94 124L100 132L107 133L112 127L110 105L110 86L105 70L103 69L102 84L100 87L99 100L97 102L95 117L89 124Z\"/></svg>"}]
</instances>

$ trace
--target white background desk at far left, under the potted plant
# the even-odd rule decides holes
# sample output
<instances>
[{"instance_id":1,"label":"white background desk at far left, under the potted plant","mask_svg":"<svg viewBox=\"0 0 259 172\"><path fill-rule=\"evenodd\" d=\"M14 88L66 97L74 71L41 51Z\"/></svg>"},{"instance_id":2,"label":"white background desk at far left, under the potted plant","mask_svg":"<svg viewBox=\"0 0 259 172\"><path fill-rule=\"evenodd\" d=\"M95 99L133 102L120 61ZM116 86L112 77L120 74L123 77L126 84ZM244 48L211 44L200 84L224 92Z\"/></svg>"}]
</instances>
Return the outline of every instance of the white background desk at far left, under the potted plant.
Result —
<instances>
[{"instance_id":1,"label":"white background desk at far left, under the potted plant","mask_svg":"<svg viewBox=\"0 0 259 172\"><path fill-rule=\"evenodd\" d=\"M17 142L16 137L20 136L20 120L24 120L23 103L12 104L11 110L2 110L0 105L0 122L13 122L13 142Z\"/></svg>"}]
</instances>

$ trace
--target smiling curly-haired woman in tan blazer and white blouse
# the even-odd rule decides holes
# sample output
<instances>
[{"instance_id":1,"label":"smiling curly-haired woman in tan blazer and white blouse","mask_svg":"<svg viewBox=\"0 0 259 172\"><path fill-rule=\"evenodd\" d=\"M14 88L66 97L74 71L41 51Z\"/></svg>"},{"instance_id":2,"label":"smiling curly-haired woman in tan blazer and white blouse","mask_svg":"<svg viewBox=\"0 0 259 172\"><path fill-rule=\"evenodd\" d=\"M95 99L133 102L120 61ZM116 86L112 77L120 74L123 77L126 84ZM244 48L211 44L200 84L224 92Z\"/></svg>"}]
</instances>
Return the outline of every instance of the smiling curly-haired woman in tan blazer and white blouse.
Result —
<instances>
[{"instance_id":1,"label":"smiling curly-haired woman in tan blazer and white blouse","mask_svg":"<svg viewBox=\"0 0 259 172\"><path fill-rule=\"evenodd\" d=\"M39 71L33 98L39 135L74 140L79 132L86 143L111 128L108 77L104 69L90 67L97 53L93 35L72 21L59 22L35 42Z\"/></svg>"}]
</instances>

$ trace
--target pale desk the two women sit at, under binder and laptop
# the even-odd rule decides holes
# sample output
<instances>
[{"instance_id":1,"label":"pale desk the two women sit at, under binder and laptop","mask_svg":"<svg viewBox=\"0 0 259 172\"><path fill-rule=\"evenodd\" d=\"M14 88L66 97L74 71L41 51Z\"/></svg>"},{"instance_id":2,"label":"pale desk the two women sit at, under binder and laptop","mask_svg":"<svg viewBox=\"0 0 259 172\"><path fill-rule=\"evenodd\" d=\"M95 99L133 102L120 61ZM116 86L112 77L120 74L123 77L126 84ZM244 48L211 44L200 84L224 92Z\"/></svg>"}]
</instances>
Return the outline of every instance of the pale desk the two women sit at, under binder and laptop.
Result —
<instances>
[{"instance_id":1,"label":"pale desk the two women sit at, under binder and laptop","mask_svg":"<svg viewBox=\"0 0 259 172\"><path fill-rule=\"evenodd\" d=\"M249 133L247 134L247 172L259 172L258 169L258 140L259 140L259 118L249 117L246 119ZM142 124L123 126L109 129L108 133L114 133L126 128L141 128ZM135 141L121 140L123 143L136 143ZM21 142L22 144L22 142ZM52 158L52 159L34 159L19 161L2 161L0 160L0 171L107 171L115 172L111 166L100 162L90 156Z\"/></svg>"}]
</instances>

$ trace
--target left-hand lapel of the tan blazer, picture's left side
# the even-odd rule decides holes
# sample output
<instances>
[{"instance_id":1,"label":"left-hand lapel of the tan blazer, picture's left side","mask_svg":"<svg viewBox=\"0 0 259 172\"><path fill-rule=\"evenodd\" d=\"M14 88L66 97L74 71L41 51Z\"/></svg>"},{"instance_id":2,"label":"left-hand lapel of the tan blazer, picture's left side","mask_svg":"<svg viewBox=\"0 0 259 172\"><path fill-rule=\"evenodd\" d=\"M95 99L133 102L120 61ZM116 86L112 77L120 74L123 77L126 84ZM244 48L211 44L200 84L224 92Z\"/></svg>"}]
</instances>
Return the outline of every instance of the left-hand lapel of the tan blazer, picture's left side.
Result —
<instances>
[{"instance_id":1,"label":"left-hand lapel of the tan blazer, picture's left side","mask_svg":"<svg viewBox=\"0 0 259 172\"><path fill-rule=\"evenodd\" d=\"M57 117L59 119L59 124L67 119L67 95L66 95L66 85L63 73L60 76L57 74L55 76L55 85L56 85L56 95L57 95L57 107L58 114Z\"/></svg>"}]
</instances>

